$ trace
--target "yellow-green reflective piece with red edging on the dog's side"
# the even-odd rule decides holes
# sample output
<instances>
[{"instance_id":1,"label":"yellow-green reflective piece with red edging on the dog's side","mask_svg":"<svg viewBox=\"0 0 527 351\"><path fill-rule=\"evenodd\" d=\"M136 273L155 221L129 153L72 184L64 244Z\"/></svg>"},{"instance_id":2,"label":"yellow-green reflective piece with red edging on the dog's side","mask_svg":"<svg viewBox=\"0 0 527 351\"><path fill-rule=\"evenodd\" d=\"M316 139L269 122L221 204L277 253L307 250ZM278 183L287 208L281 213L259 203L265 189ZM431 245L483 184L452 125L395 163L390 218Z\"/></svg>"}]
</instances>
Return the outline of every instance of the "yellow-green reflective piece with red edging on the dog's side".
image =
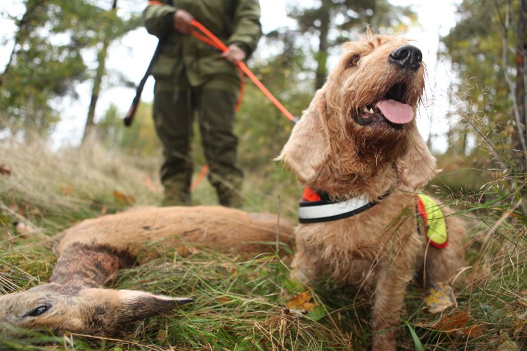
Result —
<instances>
[{"instance_id":1,"label":"yellow-green reflective piece with red edging on the dog's side","mask_svg":"<svg viewBox=\"0 0 527 351\"><path fill-rule=\"evenodd\" d=\"M428 241L439 249L447 246L447 223L441 206L432 197L419 194L417 195L417 215L423 219Z\"/></svg>"}]
</instances>

